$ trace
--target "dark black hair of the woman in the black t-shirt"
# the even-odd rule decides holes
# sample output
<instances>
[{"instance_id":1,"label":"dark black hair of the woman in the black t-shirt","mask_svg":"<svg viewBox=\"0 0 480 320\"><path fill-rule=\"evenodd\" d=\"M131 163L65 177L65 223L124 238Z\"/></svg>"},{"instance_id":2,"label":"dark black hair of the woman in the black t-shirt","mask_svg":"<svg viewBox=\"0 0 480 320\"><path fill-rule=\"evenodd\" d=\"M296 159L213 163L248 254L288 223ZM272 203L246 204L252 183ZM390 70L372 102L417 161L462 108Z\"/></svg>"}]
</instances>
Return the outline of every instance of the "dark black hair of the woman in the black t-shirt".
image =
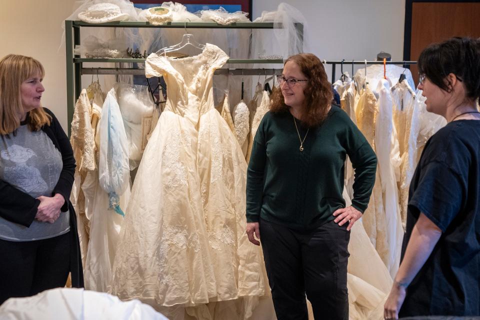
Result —
<instances>
[{"instance_id":1,"label":"dark black hair of the woman in the black t-shirt","mask_svg":"<svg viewBox=\"0 0 480 320\"><path fill-rule=\"evenodd\" d=\"M447 92L451 83L445 77L455 74L465 85L466 97L476 100L480 96L480 40L452 37L430 44L420 53L418 70Z\"/></svg>"}]
</instances>

